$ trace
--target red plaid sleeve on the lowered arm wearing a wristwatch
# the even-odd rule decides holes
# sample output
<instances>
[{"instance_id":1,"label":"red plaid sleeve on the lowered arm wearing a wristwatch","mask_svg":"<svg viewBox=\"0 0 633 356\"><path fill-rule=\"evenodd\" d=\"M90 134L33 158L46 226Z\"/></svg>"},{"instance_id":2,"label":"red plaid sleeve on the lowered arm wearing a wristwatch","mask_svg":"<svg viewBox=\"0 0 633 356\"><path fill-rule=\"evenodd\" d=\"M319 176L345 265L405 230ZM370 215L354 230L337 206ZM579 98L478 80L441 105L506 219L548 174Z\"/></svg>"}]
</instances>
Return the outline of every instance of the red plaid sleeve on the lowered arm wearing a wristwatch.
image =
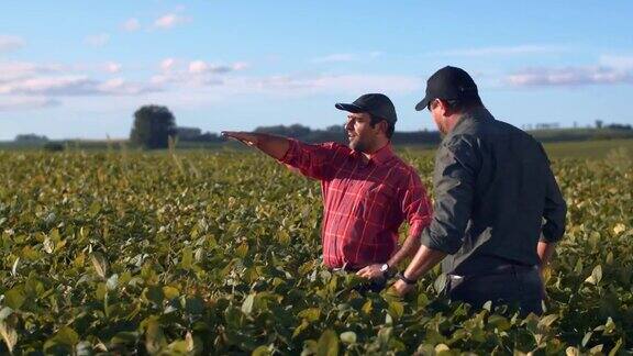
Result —
<instances>
[{"instance_id":1,"label":"red plaid sleeve on the lowered arm wearing a wristwatch","mask_svg":"<svg viewBox=\"0 0 633 356\"><path fill-rule=\"evenodd\" d=\"M420 176L412 168L401 202L402 213L409 222L409 235L421 236L422 231L431 224L433 208Z\"/></svg>"}]
</instances>

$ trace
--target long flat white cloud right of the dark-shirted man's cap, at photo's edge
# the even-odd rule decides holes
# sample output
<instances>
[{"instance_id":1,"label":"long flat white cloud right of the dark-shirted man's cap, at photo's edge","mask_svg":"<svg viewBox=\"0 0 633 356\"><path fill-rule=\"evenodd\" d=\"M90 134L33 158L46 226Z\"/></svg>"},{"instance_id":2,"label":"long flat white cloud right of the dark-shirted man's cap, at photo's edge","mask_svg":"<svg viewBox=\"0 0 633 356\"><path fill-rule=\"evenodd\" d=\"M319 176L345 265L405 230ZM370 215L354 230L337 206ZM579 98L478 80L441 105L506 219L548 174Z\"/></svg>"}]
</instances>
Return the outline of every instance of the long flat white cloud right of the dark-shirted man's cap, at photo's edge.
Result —
<instances>
[{"instance_id":1,"label":"long flat white cloud right of the dark-shirted man's cap, at photo's edge","mask_svg":"<svg viewBox=\"0 0 633 356\"><path fill-rule=\"evenodd\" d=\"M633 75L609 67L526 68L509 75L515 87L575 87L586 85L633 84Z\"/></svg>"}]
</instances>

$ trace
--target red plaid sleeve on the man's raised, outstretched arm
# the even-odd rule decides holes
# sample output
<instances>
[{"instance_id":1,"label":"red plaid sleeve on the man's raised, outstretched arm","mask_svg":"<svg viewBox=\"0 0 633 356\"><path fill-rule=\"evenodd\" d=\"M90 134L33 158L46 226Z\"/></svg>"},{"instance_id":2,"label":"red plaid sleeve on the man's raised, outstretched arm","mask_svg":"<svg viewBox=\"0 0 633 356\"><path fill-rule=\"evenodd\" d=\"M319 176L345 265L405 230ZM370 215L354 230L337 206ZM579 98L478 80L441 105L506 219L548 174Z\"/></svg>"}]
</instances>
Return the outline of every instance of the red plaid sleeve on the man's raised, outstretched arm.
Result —
<instances>
[{"instance_id":1,"label":"red plaid sleeve on the man's raised, outstretched arm","mask_svg":"<svg viewBox=\"0 0 633 356\"><path fill-rule=\"evenodd\" d=\"M290 138L290 147L280 163L298 168L303 176L324 180L332 171L333 163L337 156L335 143L307 144Z\"/></svg>"}]
</instances>

